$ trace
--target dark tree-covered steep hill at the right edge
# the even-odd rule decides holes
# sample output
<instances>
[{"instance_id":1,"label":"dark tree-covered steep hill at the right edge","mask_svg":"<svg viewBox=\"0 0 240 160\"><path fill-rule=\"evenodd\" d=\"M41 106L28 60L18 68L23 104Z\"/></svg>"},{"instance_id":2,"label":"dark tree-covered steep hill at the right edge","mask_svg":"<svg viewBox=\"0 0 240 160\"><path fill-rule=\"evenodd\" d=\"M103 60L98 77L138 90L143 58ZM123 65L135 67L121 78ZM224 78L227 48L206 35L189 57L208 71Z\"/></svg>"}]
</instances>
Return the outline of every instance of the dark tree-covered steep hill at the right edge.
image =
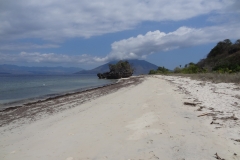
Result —
<instances>
[{"instance_id":1,"label":"dark tree-covered steep hill at the right edge","mask_svg":"<svg viewBox=\"0 0 240 160\"><path fill-rule=\"evenodd\" d=\"M209 71L240 72L240 39L235 43L229 39L218 42L197 65Z\"/></svg>"}]
</instances>

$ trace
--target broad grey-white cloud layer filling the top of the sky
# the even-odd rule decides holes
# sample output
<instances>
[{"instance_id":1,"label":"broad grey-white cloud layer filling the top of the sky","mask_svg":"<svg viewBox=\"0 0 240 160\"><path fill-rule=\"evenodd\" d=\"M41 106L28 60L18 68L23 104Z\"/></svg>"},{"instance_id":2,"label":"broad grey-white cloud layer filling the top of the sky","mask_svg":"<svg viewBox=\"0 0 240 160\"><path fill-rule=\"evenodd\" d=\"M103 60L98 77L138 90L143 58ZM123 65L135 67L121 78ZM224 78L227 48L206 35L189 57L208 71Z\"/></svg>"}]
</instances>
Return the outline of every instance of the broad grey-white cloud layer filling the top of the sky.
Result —
<instances>
[{"instance_id":1,"label":"broad grey-white cloud layer filling the top of the sky","mask_svg":"<svg viewBox=\"0 0 240 160\"><path fill-rule=\"evenodd\" d=\"M179 21L220 12L237 0L0 0L0 41L90 37L144 21ZM239 4L239 3L238 3Z\"/></svg>"}]
</instances>

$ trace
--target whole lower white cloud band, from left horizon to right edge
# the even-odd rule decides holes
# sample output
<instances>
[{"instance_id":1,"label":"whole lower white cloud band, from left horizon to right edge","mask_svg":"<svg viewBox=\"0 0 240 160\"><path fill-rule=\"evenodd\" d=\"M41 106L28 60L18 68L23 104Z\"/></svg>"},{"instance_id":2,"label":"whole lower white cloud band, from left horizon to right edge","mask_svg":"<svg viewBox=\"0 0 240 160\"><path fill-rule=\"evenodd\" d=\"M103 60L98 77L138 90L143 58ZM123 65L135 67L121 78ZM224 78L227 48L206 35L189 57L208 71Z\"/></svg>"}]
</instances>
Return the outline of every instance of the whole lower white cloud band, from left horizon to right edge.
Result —
<instances>
[{"instance_id":1,"label":"whole lower white cloud band, from left horizon to right edge","mask_svg":"<svg viewBox=\"0 0 240 160\"><path fill-rule=\"evenodd\" d=\"M96 66L116 59L146 58L157 52L207 44L209 42L217 43L227 38L239 39L239 28L240 24L238 23L205 28L189 28L183 26L169 33L159 30L149 31L145 35L138 35L116 41L112 43L112 50L105 57L94 57L88 54L68 55L39 52L21 52L19 54L0 53L0 63L64 63L70 66L76 64L92 64Z\"/></svg>"}]
</instances>

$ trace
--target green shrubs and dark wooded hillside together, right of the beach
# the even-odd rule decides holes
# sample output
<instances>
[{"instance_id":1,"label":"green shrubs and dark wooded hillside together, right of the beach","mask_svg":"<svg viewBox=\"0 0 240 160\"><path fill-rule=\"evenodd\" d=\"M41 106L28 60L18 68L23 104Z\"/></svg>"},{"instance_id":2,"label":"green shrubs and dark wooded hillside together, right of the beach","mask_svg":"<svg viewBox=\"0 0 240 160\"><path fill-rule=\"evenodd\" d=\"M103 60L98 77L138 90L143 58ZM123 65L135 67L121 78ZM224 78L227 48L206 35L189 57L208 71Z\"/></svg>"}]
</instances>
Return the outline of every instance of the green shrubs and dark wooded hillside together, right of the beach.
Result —
<instances>
[{"instance_id":1,"label":"green shrubs and dark wooded hillside together, right of the beach","mask_svg":"<svg viewBox=\"0 0 240 160\"><path fill-rule=\"evenodd\" d=\"M176 67L172 72L164 67L151 70L149 74L200 74L200 73L238 73L240 72L240 39L232 43L229 39L220 41L197 64L189 63L184 68ZM217 77L217 76L215 76Z\"/></svg>"}]
</instances>

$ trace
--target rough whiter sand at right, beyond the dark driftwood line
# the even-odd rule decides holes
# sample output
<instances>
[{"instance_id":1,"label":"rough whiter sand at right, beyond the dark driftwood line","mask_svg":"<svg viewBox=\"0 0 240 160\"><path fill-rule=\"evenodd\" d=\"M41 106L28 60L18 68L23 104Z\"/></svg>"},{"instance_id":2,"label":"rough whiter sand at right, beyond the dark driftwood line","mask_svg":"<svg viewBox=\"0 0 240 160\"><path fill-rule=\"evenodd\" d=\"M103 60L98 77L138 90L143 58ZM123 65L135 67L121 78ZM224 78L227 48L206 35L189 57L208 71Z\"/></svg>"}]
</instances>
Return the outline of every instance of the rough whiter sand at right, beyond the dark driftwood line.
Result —
<instances>
[{"instance_id":1,"label":"rough whiter sand at right, beyond the dark driftwood line","mask_svg":"<svg viewBox=\"0 0 240 160\"><path fill-rule=\"evenodd\" d=\"M159 77L160 78L160 77ZM191 80L190 78L180 78L172 76L161 76L170 80L175 86L180 87L181 91L187 93L185 101L200 102L203 113L216 114L214 123L218 129L228 130L226 135L232 139L240 139L239 120L226 120L227 117L240 119L240 86L233 83L211 83Z\"/></svg>"}]
</instances>

